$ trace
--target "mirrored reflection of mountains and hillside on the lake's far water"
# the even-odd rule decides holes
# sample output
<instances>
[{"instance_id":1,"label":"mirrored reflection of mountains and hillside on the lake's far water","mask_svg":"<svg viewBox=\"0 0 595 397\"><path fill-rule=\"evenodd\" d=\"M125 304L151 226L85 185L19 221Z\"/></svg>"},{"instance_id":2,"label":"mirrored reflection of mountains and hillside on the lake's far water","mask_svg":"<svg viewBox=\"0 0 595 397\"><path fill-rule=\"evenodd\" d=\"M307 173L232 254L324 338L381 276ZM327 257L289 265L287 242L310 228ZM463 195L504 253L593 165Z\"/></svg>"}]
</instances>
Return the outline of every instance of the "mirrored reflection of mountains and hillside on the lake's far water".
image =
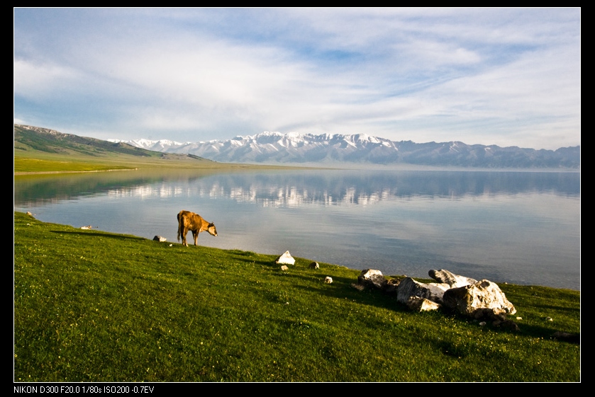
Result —
<instances>
[{"instance_id":1,"label":"mirrored reflection of mountains and hillside on the lake's far water","mask_svg":"<svg viewBox=\"0 0 595 397\"><path fill-rule=\"evenodd\" d=\"M213 176L213 178L208 178ZM174 184L175 182L175 184ZM394 197L465 197L552 192L580 195L579 173L474 171L260 171L259 173L81 173L15 182L15 205L86 195L229 197L262 205L369 205Z\"/></svg>"}]
</instances>

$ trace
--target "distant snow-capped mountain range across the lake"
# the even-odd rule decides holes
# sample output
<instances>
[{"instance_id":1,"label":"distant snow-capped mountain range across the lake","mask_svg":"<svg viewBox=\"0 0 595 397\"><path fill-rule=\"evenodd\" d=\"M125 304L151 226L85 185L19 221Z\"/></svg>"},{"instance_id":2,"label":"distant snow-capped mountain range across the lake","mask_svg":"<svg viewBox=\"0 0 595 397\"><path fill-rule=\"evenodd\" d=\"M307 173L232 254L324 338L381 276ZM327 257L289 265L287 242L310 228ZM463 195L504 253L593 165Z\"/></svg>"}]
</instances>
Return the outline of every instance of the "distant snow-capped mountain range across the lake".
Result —
<instances>
[{"instance_id":1,"label":"distant snow-capped mountain range across the lake","mask_svg":"<svg viewBox=\"0 0 595 397\"><path fill-rule=\"evenodd\" d=\"M408 163L481 168L579 168L580 146L552 150L516 146L468 145L463 142L394 142L367 134L262 132L208 142L136 139L133 146L167 153L194 154L232 163Z\"/></svg>"}]
</instances>

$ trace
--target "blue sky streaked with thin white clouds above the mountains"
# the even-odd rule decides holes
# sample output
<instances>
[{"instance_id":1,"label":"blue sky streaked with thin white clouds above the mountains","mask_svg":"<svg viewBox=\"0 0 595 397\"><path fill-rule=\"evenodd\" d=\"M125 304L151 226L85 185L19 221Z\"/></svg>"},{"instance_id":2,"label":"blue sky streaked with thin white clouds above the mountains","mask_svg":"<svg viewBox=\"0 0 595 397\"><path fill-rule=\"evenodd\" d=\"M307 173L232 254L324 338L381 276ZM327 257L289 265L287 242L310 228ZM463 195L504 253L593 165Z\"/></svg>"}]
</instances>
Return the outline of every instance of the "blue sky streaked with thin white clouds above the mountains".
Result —
<instances>
[{"instance_id":1,"label":"blue sky streaked with thin white clouds above the mountains","mask_svg":"<svg viewBox=\"0 0 595 397\"><path fill-rule=\"evenodd\" d=\"M14 122L99 139L264 131L581 141L580 8L13 8Z\"/></svg>"}]
</instances>

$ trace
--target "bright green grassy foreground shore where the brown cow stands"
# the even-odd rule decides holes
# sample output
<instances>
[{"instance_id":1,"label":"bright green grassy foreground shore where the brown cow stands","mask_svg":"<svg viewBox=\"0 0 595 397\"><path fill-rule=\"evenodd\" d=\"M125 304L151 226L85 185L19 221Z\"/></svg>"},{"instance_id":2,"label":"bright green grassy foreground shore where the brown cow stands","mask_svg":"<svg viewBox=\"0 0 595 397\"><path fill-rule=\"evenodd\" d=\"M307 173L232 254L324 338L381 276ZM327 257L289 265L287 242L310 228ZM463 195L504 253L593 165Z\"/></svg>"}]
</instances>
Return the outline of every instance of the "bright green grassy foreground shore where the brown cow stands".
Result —
<instances>
[{"instance_id":1,"label":"bright green grassy foreground shore where the brown cow stands","mask_svg":"<svg viewBox=\"0 0 595 397\"><path fill-rule=\"evenodd\" d=\"M337 265L14 217L15 381L581 379L580 345L551 336L579 332L577 291L501 284L512 332L407 311Z\"/></svg>"}]
</instances>

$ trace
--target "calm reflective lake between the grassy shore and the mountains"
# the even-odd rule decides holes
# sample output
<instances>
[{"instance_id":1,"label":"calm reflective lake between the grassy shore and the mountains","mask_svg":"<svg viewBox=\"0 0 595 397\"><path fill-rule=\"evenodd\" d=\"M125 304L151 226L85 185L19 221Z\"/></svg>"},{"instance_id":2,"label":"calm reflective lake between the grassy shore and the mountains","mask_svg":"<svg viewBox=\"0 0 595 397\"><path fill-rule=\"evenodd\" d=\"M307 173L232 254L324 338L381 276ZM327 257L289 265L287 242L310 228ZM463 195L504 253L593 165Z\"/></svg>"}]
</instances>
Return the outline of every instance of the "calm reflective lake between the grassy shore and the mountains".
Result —
<instances>
[{"instance_id":1,"label":"calm reflective lake between the grassy shore and the mountains","mask_svg":"<svg viewBox=\"0 0 595 397\"><path fill-rule=\"evenodd\" d=\"M385 275L580 289L580 174L500 171L120 171L18 176L14 209L75 227L176 241L181 209L217 226L199 244ZM191 241L189 234L189 241ZM191 249L191 247L189 248ZM355 280L354 280L355 281Z\"/></svg>"}]
</instances>

